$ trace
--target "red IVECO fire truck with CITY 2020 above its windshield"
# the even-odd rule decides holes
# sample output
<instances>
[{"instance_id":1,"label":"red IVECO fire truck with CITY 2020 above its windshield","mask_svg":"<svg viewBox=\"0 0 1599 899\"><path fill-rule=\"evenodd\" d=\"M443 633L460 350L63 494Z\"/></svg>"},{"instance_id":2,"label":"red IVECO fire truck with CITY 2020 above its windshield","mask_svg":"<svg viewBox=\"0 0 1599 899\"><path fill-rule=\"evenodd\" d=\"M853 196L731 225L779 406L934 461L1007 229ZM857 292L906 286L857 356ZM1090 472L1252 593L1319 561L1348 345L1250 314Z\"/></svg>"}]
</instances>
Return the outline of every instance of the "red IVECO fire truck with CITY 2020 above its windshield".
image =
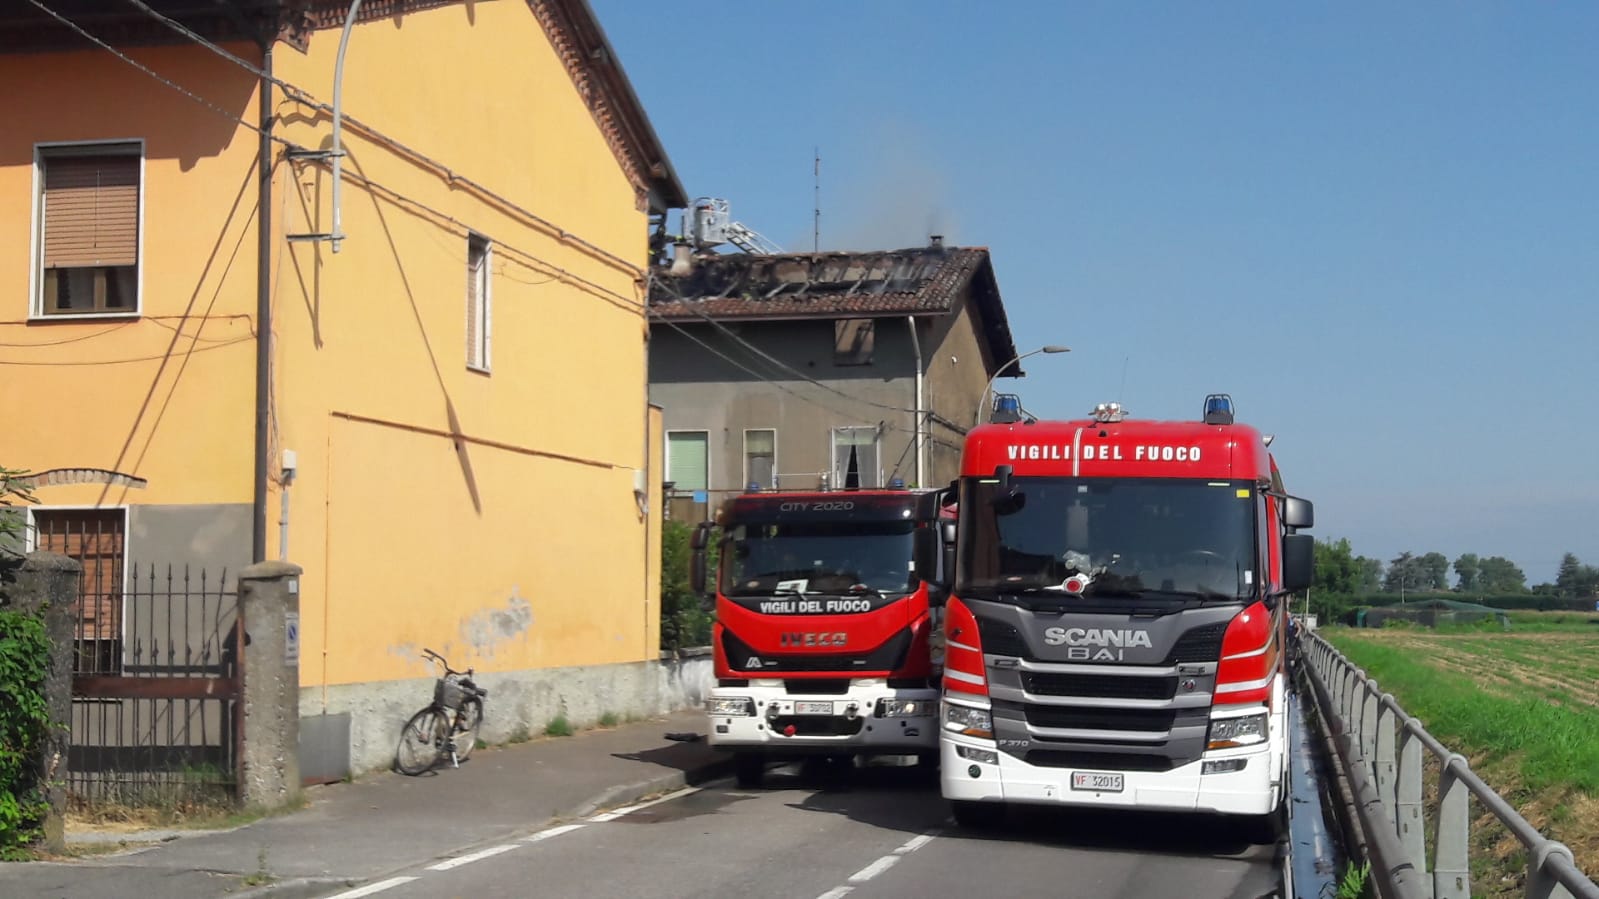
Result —
<instances>
[{"instance_id":1,"label":"red IVECO fire truck with CITY 2020 above its windshield","mask_svg":"<svg viewBox=\"0 0 1599 899\"><path fill-rule=\"evenodd\" d=\"M955 528L943 497L948 491L745 493L696 531L692 581L702 595L708 542L720 550L710 745L734 753L740 787L758 785L769 760L937 763L943 592L932 584L947 582L945 537Z\"/></svg>"}]
</instances>

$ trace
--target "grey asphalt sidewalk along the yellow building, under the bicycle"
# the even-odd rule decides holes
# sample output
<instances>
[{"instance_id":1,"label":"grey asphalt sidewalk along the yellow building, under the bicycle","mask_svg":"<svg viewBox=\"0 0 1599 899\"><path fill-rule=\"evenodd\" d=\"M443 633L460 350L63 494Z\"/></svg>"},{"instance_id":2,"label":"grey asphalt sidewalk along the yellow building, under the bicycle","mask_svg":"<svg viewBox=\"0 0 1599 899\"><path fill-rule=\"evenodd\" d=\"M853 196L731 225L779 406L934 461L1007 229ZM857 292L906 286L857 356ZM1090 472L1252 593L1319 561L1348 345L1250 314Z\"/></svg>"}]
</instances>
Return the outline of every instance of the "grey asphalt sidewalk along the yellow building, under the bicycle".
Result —
<instances>
[{"instance_id":1,"label":"grey asphalt sidewalk along the yellow building, under the bicycle","mask_svg":"<svg viewBox=\"0 0 1599 899\"><path fill-rule=\"evenodd\" d=\"M683 731L700 739L665 739ZM382 773L309 787L305 809L233 830L130 833L123 838L166 841L75 862L0 865L0 896L326 896L422 861L731 773L729 758L712 750L704 733L704 713L688 710L571 737L480 749L459 769L446 766L422 777ZM261 883L267 880L270 883Z\"/></svg>"}]
</instances>

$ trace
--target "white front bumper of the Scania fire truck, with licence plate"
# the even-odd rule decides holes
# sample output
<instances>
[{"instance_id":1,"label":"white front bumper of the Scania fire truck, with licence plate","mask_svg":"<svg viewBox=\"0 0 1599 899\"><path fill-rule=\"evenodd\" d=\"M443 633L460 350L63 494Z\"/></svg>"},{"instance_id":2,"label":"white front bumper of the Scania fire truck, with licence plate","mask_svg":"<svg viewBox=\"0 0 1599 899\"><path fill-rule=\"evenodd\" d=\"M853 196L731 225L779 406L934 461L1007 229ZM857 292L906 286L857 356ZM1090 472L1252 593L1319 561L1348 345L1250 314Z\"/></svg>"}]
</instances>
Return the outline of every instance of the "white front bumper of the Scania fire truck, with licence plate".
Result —
<instances>
[{"instance_id":1,"label":"white front bumper of the Scania fire truck, with licence plate","mask_svg":"<svg viewBox=\"0 0 1599 899\"><path fill-rule=\"evenodd\" d=\"M998 752L993 741L948 733L940 742L940 789L956 801L1268 814L1284 789L1281 771L1273 771L1279 757L1268 745L1207 752L1204 760L1170 771L1115 771L1028 765ZM1207 774L1207 761L1242 766ZM1075 773L1119 774L1121 789L1073 787Z\"/></svg>"}]
</instances>

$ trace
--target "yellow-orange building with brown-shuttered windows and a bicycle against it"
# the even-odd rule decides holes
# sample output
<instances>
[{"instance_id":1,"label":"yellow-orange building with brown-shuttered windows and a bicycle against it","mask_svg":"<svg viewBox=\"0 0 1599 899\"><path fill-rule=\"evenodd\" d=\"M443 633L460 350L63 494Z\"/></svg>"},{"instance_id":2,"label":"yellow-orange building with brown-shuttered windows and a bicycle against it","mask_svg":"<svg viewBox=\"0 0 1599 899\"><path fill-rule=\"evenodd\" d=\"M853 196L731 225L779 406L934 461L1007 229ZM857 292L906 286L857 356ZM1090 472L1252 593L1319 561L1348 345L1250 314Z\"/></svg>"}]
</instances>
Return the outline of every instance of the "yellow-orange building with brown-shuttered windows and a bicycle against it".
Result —
<instances>
[{"instance_id":1,"label":"yellow-orange building with brown-shuttered windows and a bicycle against it","mask_svg":"<svg viewBox=\"0 0 1599 899\"><path fill-rule=\"evenodd\" d=\"M656 710L641 278L683 189L584 0L368 0L336 85L349 6L0 13L35 545L85 558L114 669L149 566L301 565L301 713L349 713L357 769L424 646L477 665L488 739Z\"/></svg>"}]
</instances>

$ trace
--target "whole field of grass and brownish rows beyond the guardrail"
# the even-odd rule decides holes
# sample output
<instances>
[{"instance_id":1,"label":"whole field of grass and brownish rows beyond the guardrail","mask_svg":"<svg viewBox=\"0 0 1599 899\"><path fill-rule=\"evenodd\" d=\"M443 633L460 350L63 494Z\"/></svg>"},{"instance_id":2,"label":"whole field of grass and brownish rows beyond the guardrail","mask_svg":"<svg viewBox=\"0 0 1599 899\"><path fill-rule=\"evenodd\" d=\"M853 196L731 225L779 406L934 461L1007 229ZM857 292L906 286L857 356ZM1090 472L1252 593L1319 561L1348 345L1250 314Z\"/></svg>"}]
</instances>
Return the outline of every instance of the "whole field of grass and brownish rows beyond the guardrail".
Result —
<instances>
[{"instance_id":1,"label":"whole field of grass and brownish rows beyond the guardrail","mask_svg":"<svg viewBox=\"0 0 1599 899\"><path fill-rule=\"evenodd\" d=\"M1322 629L1543 833L1599 875L1599 614L1511 613L1511 629ZM1436 782L1434 777L1430 781ZM1519 843L1473 822L1473 894L1514 894ZM1485 857L1476 857L1485 856Z\"/></svg>"}]
</instances>

